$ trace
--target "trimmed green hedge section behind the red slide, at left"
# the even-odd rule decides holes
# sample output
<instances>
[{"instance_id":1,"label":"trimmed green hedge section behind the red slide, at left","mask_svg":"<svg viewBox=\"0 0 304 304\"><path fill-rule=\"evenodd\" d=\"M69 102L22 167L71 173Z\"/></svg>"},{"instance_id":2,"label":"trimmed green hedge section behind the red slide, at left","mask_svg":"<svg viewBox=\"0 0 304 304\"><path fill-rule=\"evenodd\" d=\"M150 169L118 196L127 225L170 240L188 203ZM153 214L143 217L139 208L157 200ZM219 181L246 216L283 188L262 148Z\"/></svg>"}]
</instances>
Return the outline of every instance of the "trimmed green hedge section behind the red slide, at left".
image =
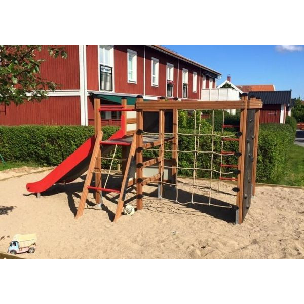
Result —
<instances>
[{"instance_id":1,"label":"trimmed green hedge section behind the red slide, at left","mask_svg":"<svg viewBox=\"0 0 304 304\"><path fill-rule=\"evenodd\" d=\"M117 127L103 127L103 139ZM7 161L57 166L94 135L93 126L0 126L0 154Z\"/></svg>"}]
</instances>

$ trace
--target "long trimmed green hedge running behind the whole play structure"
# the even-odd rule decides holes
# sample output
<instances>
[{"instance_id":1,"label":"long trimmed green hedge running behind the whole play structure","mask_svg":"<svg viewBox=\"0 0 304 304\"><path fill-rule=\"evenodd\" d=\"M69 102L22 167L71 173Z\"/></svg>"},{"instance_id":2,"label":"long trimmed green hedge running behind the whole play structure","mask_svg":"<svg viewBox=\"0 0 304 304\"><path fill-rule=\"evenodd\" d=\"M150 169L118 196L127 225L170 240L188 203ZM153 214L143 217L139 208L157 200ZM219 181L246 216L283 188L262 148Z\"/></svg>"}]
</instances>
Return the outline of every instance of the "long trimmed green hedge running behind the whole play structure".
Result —
<instances>
[{"instance_id":1,"label":"long trimmed green hedge running behind the whole play structure","mask_svg":"<svg viewBox=\"0 0 304 304\"><path fill-rule=\"evenodd\" d=\"M237 121L237 118L235 119ZM107 139L115 133L118 127L103 127L104 137ZM179 128L180 133L193 133L191 128ZM211 125L202 121L201 133L210 134ZM221 132L216 132L221 135ZM294 140L294 129L289 124L262 124L259 133L257 180L259 182L275 182L285 172L288 150ZM56 166L77 149L86 139L94 134L92 126L0 126L0 154L6 161L32 161L41 166ZM226 135L234 132L226 132ZM212 146L210 136L200 136L199 150L209 151ZM214 150L221 151L221 138L214 138ZM171 149L166 143L166 148ZM179 150L194 150L194 136L180 135ZM238 142L224 141L223 150L235 151ZM144 151L144 157L157 156L158 151ZM117 158L121 157L121 149L118 148ZM170 153L165 153L170 158ZM213 169L220 169L220 155L213 156ZM235 156L223 156L223 163L237 164ZM110 161L104 160L103 168L109 168ZM179 167L193 167L194 154L180 153ZM197 168L210 169L211 154L200 153L197 155ZM117 163L113 169L117 168ZM230 171L230 169L228 169ZM225 170L224 170L225 171ZM180 169L180 175L192 176L191 170ZM209 177L209 171L198 171L199 177ZM218 177L217 173L213 174Z\"/></svg>"}]
</instances>

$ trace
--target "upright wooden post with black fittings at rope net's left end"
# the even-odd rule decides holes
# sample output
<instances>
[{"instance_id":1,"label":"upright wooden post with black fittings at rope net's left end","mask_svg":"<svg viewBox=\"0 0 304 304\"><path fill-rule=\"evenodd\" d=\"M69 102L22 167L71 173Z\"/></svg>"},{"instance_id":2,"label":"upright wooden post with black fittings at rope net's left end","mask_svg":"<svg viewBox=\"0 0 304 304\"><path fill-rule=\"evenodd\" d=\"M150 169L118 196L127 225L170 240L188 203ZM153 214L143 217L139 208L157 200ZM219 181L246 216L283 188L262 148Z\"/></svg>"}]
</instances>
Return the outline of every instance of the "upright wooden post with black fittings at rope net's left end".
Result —
<instances>
[{"instance_id":1,"label":"upright wooden post with black fittings at rope net's left end","mask_svg":"<svg viewBox=\"0 0 304 304\"><path fill-rule=\"evenodd\" d=\"M142 96L137 96L136 102L143 102ZM143 110L136 111L136 206L137 210L142 209L142 178L143 168L138 166L142 163L142 130L143 130Z\"/></svg>"}]
</instances>

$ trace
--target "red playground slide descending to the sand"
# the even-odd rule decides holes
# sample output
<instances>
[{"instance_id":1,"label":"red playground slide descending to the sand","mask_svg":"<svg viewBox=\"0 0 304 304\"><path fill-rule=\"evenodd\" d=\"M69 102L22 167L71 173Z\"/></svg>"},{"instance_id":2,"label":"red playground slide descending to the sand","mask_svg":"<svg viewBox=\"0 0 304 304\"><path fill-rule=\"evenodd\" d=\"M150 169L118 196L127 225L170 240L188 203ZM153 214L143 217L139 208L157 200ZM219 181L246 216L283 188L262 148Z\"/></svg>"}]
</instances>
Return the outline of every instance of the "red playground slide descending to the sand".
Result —
<instances>
[{"instance_id":1,"label":"red playground slide descending to the sand","mask_svg":"<svg viewBox=\"0 0 304 304\"><path fill-rule=\"evenodd\" d=\"M95 138L92 136L42 180L28 183L27 191L41 193L54 183L68 183L80 177L88 170L94 144ZM102 149L103 155L111 149L111 146Z\"/></svg>"}]
</instances>

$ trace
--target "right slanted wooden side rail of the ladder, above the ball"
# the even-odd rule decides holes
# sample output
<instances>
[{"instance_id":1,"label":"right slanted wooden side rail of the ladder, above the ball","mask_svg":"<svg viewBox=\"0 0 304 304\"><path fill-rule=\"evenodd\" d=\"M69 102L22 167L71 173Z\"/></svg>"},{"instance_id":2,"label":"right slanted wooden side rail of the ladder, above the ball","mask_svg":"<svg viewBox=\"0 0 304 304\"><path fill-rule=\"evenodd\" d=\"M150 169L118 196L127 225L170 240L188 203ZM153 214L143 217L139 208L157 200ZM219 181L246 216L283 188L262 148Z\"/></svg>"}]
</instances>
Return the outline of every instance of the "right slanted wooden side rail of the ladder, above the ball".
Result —
<instances>
[{"instance_id":1,"label":"right slanted wooden side rail of the ladder, above the ball","mask_svg":"<svg viewBox=\"0 0 304 304\"><path fill-rule=\"evenodd\" d=\"M129 172L130 172L131 164L132 164L134 156L135 156L136 136L137 136L136 134L133 135L133 141L132 141L132 144L130 147L130 153L129 153L126 170L125 170L124 177L123 177L123 182L122 182L121 191L120 191L120 195L119 195L119 199L118 199L114 222L117 222L118 219L122 215L124 201L125 201L125 193L126 193L126 189L128 187L128 182L129 182Z\"/></svg>"}]
</instances>

